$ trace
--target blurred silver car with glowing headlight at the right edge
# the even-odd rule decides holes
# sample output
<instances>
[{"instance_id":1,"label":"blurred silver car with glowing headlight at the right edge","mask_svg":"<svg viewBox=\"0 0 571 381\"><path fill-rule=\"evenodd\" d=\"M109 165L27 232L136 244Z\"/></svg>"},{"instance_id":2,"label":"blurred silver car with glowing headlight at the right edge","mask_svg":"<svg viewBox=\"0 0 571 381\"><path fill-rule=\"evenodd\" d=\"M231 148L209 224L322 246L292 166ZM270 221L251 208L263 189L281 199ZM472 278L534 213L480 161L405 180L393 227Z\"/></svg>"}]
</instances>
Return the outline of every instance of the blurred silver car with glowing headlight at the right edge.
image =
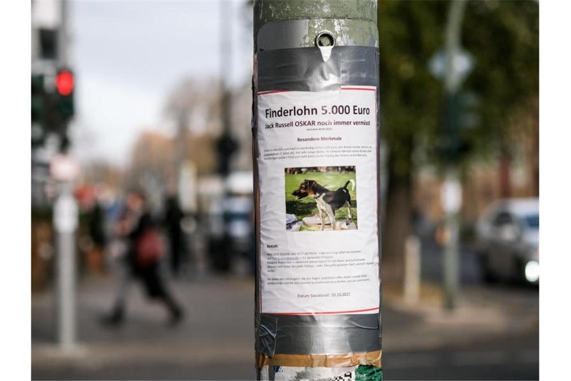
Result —
<instances>
[{"instance_id":1,"label":"blurred silver car with glowing headlight at the right edge","mask_svg":"<svg viewBox=\"0 0 571 381\"><path fill-rule=\"evenodd\" d=\"M484 279L539 284L539 199L494 202L478 220L478 254Z\"/></svg>"}]
</instances>

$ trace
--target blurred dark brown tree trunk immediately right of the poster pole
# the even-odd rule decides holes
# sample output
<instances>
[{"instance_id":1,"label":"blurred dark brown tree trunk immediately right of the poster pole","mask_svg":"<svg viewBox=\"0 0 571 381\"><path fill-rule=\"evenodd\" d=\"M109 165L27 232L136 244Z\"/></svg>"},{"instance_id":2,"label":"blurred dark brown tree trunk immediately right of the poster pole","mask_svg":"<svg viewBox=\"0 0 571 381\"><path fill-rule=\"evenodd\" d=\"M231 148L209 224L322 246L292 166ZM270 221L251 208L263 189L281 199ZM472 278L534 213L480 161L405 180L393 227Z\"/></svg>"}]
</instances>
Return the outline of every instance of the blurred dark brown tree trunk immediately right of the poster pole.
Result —
<instances>
[{"instance_id":1,"label":"blurred dark brown tree trunk immediately right of the poster pole","mask_svg":"<svg viewBox=\"0 0 571 381\"><path fill-rule=\"evenodd\" d=\"M412 186L411 175L395 173L394 163L389 159L387 208L383 218L382 272L383 283L401 287L404 276L404 246L411 233Z\"/></svg>"}]
</instances>

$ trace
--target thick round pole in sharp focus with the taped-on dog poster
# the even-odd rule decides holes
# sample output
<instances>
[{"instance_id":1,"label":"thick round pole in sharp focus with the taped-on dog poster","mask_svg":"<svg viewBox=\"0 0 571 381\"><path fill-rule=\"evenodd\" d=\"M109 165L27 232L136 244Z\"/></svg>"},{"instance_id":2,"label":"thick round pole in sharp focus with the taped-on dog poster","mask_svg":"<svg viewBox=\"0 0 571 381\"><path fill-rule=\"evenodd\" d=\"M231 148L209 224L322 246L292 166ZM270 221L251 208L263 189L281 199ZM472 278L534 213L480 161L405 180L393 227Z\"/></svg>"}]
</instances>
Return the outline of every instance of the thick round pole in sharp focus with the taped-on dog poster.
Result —
<instances>
[{"instance_id":1,"label":"thick round pole in sharp focus with the taped-on dog poster","mask_svg":"<svg viewBox=\"0 0 571 381\"><path fill-rule=\"evenodd\" d=\"M380 380L377 2L258 0L257 378Z\"/></svg>"}]
</instances>

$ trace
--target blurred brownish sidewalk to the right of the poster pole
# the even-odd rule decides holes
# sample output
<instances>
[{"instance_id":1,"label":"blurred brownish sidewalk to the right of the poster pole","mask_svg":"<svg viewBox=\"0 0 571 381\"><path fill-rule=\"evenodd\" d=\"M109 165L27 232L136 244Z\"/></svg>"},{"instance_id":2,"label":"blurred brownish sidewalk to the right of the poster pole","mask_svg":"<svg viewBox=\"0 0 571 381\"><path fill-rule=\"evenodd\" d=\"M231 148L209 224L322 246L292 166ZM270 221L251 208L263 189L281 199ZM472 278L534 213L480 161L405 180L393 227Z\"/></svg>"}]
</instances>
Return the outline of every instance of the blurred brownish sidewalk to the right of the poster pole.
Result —
<instances>
[{"instance_id":1,"label":"blurred brownish sidewalk to the right of the poster pole","mask_svg":"<svg viewBox=\"0 0 571 381\"><path fill-rule=\"evenodd\" d=\"M467 347L537 330L539 294L532 288L470 286L454 311L443 309L441 288L423 284L419 302L396 292L383 293L383 352L412 352Z\"/></svg>"}]
</instances>

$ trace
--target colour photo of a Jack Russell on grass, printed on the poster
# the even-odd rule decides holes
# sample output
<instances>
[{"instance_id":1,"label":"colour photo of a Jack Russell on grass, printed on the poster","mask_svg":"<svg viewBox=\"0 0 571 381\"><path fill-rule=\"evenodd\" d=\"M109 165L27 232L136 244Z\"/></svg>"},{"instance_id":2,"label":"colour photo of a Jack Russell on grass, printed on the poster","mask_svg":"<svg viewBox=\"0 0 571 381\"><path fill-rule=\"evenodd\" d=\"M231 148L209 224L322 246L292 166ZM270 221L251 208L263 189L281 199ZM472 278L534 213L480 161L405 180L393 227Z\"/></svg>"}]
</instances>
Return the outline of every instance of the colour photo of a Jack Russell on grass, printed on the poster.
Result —
<instances>
[{"instance_id":1,"label":"colour photo of a Jack Russell on grass, printed on the poster","mask_svg":"<svg viewBox=\"0 0 571 381\"><path fill-rule=\"evenodd\" d=\"M286 168L286 230L357 228L355 166Z\"/></svg>"}]
</instances>

